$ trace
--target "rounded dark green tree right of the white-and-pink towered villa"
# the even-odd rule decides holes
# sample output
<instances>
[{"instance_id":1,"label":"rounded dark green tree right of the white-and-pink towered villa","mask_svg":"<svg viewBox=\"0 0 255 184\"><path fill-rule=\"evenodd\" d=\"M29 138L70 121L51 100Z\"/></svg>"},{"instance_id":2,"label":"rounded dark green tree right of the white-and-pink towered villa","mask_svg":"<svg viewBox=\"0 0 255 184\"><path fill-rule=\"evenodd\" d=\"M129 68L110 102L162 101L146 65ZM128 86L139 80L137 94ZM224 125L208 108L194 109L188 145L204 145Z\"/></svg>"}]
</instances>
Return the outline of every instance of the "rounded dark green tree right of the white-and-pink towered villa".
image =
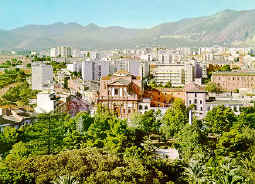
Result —
<instances>
[{"instance_id":1,"label":"rounded dark green tree right of the white-and-pink towered villa","mask_svg":"<svg viewBox=\"0 0 255 184\"><path fill-rule=\"evenodd\" d=\"M233 111L229 107L221 105L207 113L204 123L209 133L222 134L228 132L236 120Z\"/></svg>"}]
</instances>

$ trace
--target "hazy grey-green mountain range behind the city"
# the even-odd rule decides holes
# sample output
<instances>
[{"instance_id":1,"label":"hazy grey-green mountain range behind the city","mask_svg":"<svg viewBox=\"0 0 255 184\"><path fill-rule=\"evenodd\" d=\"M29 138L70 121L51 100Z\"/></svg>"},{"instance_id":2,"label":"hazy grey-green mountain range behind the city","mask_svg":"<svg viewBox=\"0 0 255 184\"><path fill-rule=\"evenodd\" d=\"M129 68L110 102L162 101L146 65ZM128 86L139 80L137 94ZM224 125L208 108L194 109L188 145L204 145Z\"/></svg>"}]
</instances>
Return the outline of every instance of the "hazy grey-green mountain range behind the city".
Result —
<instances>
[{"instance_id":1,"label":"hazy grey-green mountain range behind the city","mask_svg":"<svg viewBox=\"0 0 255 184\"><path fill-rule=\"evenodd\" d=\"M153 15L152 15L153 16ZM186 18L150 29L82 26L77 23L27 25L0 30L0 49L37 49L58 45L77 48L253 46L255 10L225 10L211 16Z\"/></svg>"}]
</instances>

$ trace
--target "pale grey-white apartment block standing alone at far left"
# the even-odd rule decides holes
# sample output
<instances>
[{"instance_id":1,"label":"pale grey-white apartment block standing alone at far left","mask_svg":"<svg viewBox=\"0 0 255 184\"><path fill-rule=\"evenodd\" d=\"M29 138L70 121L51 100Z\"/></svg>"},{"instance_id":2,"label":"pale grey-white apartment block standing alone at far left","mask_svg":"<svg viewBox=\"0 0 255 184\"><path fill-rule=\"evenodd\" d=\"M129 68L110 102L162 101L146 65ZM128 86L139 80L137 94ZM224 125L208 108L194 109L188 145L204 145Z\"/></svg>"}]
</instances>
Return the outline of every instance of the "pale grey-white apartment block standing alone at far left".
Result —
<instances>
[{"instance_id":1,"label":"pale grey-white apartment block standing alone at far left","mask_svg":"<svg viewBox=\"0 0 255 184\"><path fill-rule=\"evenodd\" d=\"M53 68L51 65L36 63L32 65L32 89L50 89L53 82Z\"/></svg>"}]
</instances>

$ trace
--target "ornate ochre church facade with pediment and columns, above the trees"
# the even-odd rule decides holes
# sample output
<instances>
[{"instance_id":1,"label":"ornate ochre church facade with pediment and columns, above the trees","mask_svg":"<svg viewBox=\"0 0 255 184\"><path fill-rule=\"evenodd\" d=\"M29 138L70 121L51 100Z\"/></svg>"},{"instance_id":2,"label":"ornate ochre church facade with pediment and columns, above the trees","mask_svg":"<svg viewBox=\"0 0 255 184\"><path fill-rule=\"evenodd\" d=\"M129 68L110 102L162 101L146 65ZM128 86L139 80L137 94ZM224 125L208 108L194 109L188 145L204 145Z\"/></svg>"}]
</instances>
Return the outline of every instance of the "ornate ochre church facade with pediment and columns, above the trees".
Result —
<instances>
[{"instance_id":1,"label":"ornate ochre church facade with pediment and columns, above the trees","mask_svg":"<svg viewBox=\"0 0 255 184\"><path fill-rule=\"evenodd\" d=\"M100 81L98 103L107 107L120 118L130 118L138 112L142 98L142 80L127 72L117 72Z\"/></svg>"}]
</instances>

